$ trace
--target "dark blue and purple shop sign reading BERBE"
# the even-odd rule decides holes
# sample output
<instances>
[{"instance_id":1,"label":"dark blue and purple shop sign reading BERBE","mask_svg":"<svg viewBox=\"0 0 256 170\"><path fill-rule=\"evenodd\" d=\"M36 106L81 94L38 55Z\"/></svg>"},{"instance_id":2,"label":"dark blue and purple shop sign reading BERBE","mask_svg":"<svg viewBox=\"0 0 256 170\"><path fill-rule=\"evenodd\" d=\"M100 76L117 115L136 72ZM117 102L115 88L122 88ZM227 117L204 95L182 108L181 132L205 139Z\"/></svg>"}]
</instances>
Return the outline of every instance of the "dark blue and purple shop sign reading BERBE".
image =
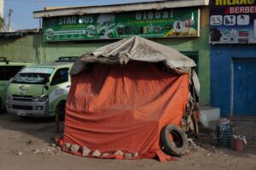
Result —
<instances>
[{"instance_id":1,"label":"dark blue and purple shop sign reading BERBE","mask_svg":"<svg viewBox=\"0 0 256 170\"><path fill-rule=\"evenodd\" d=\"M211 0L211 43L256 43L254 0Z\"/></svg>"}]
</instances>

